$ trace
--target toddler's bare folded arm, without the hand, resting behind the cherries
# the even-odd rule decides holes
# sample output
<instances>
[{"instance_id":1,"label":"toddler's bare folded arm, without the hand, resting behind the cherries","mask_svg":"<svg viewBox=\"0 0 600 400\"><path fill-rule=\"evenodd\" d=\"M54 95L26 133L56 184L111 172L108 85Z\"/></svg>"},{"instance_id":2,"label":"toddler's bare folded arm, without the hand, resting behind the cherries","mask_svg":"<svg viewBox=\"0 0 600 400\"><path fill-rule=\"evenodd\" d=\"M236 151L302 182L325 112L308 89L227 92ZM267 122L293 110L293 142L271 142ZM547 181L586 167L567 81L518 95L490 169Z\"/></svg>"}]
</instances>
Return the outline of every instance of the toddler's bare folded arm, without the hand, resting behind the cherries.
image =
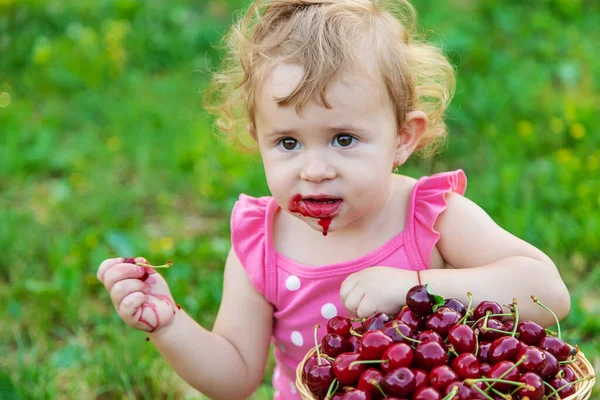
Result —
<instances>
[{"instance_id":1,"label":"toddler's bare folded arm, without the hand, resting behind the cherries","mask_svg":"<svg viewBox=\"0 0 600 400\"><path fill-rule=\"evenodd\" d=\"M500 228L479 206L452 193L448 208L436 222L438 249L451 269L421 272L422 281L443 297L473 303L518 300L520 319L544 326L554 324L550 313L534 304L531 295L552 309L559 319L569 312L569 292L550 258L529 243Z\"/></svg>"}]
</instances>

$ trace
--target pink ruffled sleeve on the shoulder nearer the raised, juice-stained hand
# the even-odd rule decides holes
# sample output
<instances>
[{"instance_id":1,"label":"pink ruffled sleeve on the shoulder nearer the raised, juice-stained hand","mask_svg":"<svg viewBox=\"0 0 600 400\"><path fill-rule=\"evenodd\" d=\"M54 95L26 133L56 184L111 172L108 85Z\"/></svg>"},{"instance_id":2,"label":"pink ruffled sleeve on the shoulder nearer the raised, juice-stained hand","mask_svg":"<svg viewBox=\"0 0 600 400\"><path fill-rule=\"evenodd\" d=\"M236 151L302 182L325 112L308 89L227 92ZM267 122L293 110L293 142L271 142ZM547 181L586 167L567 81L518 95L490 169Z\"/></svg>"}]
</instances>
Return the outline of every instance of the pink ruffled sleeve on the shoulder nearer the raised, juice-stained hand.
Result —
<instances>
[{"instance_id":1,"label":"pink ruffled sleeve on the shoulder nearer the raised, juice-stained hand","mask_svg":"<svg viewBox=\"0 0 600 400\"><path fill-rule=\"evenodd\" d=\"M269 197L241 194L231 213L231 245L256 290L265 295L266 215Z\"/></svg>"}]
</instances>

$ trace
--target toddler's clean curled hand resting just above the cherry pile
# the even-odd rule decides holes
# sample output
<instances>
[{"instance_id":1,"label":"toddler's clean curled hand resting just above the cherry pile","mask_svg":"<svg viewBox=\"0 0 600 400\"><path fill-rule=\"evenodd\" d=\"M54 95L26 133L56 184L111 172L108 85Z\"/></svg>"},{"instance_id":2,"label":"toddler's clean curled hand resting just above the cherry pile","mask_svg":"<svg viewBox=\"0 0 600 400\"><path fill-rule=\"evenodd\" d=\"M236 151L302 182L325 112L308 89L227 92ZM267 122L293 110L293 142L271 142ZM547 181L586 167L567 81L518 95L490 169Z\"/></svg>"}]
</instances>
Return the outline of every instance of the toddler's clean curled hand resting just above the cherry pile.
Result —
<instances>
[{"instance_id":1,"label":"toddler's clean curled hand resting just above the cherry pile","mask_svg":"<svg viewBox=\"0 0 600 400\"><path fill-rule=\"evenodd\" d=\"M359 318L376 312L395 314L405 304L406 293L418 284L414 271L371 267L347 277L340 298L348 312Z\"/></svg>"}]
</instances>

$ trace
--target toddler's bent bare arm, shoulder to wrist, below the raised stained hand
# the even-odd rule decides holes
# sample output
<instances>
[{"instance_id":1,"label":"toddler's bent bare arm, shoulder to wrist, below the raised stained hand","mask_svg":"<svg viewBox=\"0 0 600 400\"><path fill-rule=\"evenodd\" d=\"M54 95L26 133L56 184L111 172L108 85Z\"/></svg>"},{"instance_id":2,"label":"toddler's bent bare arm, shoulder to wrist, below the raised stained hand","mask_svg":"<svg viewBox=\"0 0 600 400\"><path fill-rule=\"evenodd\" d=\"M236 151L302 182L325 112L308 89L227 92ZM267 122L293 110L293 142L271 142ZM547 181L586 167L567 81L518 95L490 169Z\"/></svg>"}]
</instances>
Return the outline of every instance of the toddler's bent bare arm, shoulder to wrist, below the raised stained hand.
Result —
<instances>
[{"instance_id":1,"label":"toddler's bent bare arm, shoulder to wrist, below the raised stained hand","mask_svg":"<svg viewBox=\"0 0 600 400\"><path fill-rule=\"evenodd\" d=\"M256 292L231 250L213 331L180 310L173 323L149 337L173 369L203 394L246 399L263 377L272 318L272 306Z\"/></svg>"}]
</instances>

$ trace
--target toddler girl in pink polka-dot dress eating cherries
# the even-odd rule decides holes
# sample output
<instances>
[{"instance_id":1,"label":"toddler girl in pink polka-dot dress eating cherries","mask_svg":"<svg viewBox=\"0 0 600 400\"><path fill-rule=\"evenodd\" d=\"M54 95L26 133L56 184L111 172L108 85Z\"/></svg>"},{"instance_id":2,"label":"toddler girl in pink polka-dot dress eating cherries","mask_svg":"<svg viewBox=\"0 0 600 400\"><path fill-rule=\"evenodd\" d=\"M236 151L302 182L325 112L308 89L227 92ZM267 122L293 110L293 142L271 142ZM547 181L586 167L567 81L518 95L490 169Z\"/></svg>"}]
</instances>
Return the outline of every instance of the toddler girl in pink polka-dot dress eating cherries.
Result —
<instances>
[{"instance_id":1,"label":"toddler girl in pink polka-dot dress eating cherries","mask_svg":"<svg viewBox=\"0 0 600 400\"><path fill-rule=\"evenodd\" d=\"M569 310L553 262L463 196L462 170L393 173L443 139L454 85L441 52L413 33L411 5L393 3L261 0L230 30L208 109L256 143L272 196L242 194L233 208L212 331L153 269L99 267L123 320L211 399L250 396L271 343L275 398L299 399L295 369L316 324L396 313L420 282L475 304L517 298L521 318L546 326L532 294L559 318Z\"/></svg>"}]
</instances>

